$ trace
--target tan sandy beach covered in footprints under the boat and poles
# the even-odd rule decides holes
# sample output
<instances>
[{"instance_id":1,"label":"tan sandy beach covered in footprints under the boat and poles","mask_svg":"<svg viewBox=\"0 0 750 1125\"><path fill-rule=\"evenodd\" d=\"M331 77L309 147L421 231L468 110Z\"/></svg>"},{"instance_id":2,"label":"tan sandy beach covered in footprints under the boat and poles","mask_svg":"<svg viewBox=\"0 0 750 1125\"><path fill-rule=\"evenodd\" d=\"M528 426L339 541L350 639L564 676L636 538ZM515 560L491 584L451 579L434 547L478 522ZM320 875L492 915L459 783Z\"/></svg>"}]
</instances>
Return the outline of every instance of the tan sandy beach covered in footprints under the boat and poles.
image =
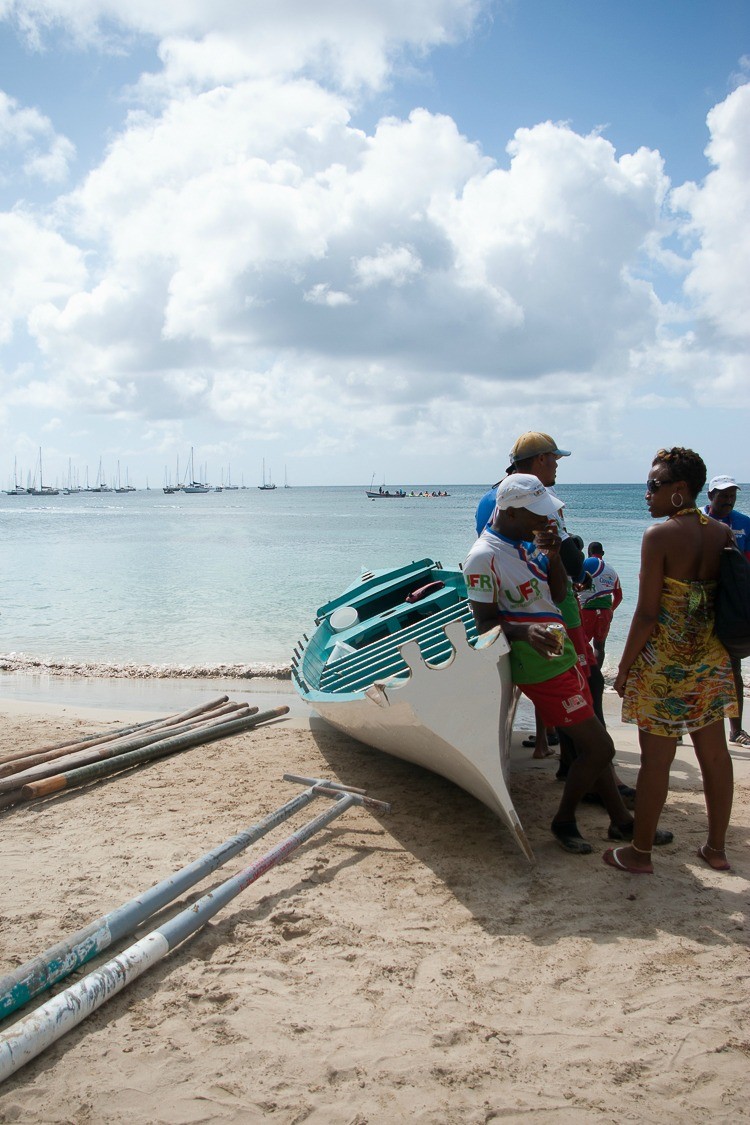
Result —
<instances>
[{"instance_id":1,"label":"tan sandy beach covered in footprints under the boat and poles","mask_svg":"<svg viewBox=\"0 0 750 1125\"><path fill-rule=\"evenodd\" d=\"M278 690L288 695L288 685ZM125 699L0 700L0 749L205 698L191 685L170 702L170 691L142 710ZM618 770L632 782L636 734L620 723L615 696L606 704ZM296 706L273 726L0 813L1 974L278 808L297 792L287 771L392 803L390 816L349 810L8 1079L0 1120L750 1117L750 754L732 754L733 871L696 858L705 813L686 745L661 821L675 843L656 854L653 878L633 878L600 861L600 809L579 818L593 856L553 843L555 764L534 762L521 739L518 730L513 795L533 866L472 798ZM311 814L231 861L193 898Z\"/></svg>"}]
</instances>

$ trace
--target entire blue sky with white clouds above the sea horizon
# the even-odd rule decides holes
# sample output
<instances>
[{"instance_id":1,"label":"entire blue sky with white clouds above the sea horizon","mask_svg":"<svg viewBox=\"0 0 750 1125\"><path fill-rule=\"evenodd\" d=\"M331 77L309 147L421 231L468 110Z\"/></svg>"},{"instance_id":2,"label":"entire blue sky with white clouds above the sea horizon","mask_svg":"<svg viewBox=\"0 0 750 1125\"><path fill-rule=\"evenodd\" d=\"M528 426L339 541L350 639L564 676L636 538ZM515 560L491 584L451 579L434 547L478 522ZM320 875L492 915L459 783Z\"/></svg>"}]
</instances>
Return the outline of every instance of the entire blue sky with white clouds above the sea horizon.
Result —
<instances>
[{"instance_id":1,"label":"entire blue sky with white clouds above the sea horizon","mask_svg":"<svg viewBox=\"0 0 750 1125\"><path fill-rule=\"evenodd\" d=\"M747 0L0 0L0 487L750 482L749 261Z\"/></svg>"}]
</instances>

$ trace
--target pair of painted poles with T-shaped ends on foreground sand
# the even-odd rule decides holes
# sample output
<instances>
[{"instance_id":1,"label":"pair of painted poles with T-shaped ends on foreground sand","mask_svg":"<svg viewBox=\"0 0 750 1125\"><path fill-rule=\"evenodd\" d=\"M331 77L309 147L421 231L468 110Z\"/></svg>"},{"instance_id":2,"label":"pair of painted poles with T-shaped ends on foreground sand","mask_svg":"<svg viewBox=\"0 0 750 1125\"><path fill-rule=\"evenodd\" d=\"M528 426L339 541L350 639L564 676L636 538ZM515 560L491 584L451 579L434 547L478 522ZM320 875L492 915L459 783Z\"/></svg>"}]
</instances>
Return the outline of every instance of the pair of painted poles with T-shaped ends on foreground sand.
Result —
<instances>
[{"instance_id":1,"label":"pair of painted poles with T-shaped ends on foreground sand","mask_svg":"<svg viewBox=\"0 0 750 1125\"><path fill-rule=\"evenodd\" d=\"M52 997L30 1016L0 1033L0 1083L137 980L171 950L202 929L232 899L271 867L286 860L346 809L359 804L373 811L390 812L388 804L364 796L361 790L349 790L346 786L320 778L305 778L308 780L313 784L305 792L247 831L233 837L220 847L207 853L201 860L183 867L171 879L157 883L144 894L132 899L118 910L103 916L73 937L53 946L52 950L47 950L46 953L3 978L0 981L0 1018L20 1007L54 981L67 975L76 965L94 956L118 937L132 934L143 920L151 918L187 888L206 878L231 856L250 846L315 796L324 795L333 799L333 804L325 812L302 825L244 871L227 879L116 957ZM97 944L98 942L103 944Z\"/></svg>"}]
</instances>

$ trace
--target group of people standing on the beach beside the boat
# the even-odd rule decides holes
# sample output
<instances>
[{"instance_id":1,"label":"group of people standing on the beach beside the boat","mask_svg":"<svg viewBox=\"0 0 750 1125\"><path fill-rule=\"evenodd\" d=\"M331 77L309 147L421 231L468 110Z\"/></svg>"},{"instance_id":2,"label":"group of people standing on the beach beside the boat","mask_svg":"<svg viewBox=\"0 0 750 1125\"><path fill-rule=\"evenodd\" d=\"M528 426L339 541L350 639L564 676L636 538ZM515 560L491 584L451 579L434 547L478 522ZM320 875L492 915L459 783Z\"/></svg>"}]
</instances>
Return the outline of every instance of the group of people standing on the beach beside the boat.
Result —
<instances>
[{"instance_id":1,"label":"group of people standing on the beach beside the boat","mask_svg":"<svg viewBox=\"0 0 750 1125\"><path fill-rule=\"evenodd\" d=\"M689 735L703 776L707 837L698 858L729 871L726 829L733 794L730 741L750 748L742 729L741 660L716 637L715 595L725 547L750 560L750 516L734 510L739 486L719 475L708 503L697 507L707 471L690 449L660 449L645 485L651 524L643 536L638 604L614 687L623 721L639 729L641 766L635 789L614 768L615 746L603 711L605 645L622 602L620 578L604 561L599 541L588 544L564 524L564 504L552 486L570 451L546 433L531 431L514 443L501 480L481 497L477 540L463 564L479 632L501 626L510 645L514 683L534 705L534 757L559 746L563 782L551 824L559 844L578 855L593 852L576 811L581 801L604 806L606 864L652 874L651 850L672 834L658 827L678 742Z\"/></svg>"}]
</instances>

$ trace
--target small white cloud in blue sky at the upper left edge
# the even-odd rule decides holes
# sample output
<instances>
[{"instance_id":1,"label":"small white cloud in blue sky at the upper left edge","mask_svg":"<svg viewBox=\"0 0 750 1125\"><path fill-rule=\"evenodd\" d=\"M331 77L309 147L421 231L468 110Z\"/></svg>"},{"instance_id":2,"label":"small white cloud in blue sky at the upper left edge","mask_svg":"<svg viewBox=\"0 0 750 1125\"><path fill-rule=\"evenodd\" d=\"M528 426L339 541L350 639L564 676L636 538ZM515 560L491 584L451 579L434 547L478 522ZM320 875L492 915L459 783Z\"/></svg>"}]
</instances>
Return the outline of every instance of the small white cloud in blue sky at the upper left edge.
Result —
<instances>
[{"instance_id":1,"label":"small white cloud in blue sky at the upper left edge","mask_svg":"<svg viewBox=\"0 0 750 1125\"><path fill-rule=\"evenodd\" d=\"M73 144L56 134L52 122L37 109L20 106L0 90L0 176L16 174L20 156L22 172L46 183L61 183L67 177L75 154Z\"/></svg>"}]
</instances>

